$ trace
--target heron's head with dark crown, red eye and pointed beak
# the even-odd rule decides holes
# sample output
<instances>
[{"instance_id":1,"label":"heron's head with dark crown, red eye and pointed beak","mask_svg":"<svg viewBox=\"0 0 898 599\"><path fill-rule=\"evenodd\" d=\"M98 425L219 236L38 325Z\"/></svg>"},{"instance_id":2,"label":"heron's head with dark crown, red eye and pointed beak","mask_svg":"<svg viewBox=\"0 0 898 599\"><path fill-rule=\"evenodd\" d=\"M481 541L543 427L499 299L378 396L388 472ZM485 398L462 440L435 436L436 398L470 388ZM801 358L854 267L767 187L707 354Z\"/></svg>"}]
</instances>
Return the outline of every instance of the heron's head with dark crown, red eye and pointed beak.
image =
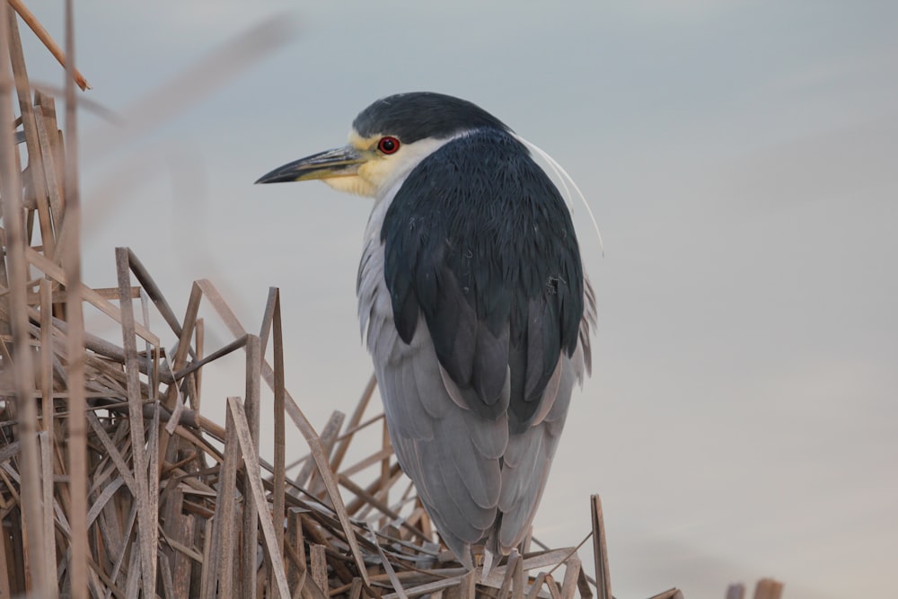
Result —
<instances>
[{"instance_id":1,"label":"heron's head with dark crown, red eye and pointed beak","mask_svg":"<svg viewBox=\"0 0 898 599\"><path fill-rule=\"evenodd\" d=\"M340 191L379 197L438 147L479 128L509 130L470 101L433 92L400 93L362 110L347 145L286 163L256 182L320 179Z\"/></svg>"}]
</instances>

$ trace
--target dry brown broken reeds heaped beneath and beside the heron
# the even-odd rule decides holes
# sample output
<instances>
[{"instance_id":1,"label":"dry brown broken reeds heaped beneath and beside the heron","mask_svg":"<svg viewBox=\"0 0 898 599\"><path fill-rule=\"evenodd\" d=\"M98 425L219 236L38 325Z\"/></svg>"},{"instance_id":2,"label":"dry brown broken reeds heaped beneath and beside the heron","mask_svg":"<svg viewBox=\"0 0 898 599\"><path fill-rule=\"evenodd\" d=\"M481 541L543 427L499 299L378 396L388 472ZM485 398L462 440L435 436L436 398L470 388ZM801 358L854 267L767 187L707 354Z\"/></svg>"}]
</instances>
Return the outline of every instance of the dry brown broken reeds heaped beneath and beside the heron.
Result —
<instances>
[{"instance_id":1,"label":"dry brown broken reeds heaped beneath and beside the heron","mask_svg":"<svg viewBox=\"0 0 898 599\"><path fill-rule=\"evenodd\" d=\"M22 3L0 5L0 113L16 114L14 94L19 115L0 139L0 597L611 598L597 496L594 578L573 547L462 568L392 454L374 379L321 432L286 390L277 288L249 331L209 280L176 315L128 248L114 250L118 286L85 286L71 18L64 52ZM10 7L66 63L65 132L56 99L29 84ZM207 347L201 306L230 342ZM85 309L115 322L116 340L85 330ZM204 370L235 352L245 386L214 422ZM288 466L297 430L308 454ZM372 431L379 442L346 463Z\"/></svg>"}]
</instances>

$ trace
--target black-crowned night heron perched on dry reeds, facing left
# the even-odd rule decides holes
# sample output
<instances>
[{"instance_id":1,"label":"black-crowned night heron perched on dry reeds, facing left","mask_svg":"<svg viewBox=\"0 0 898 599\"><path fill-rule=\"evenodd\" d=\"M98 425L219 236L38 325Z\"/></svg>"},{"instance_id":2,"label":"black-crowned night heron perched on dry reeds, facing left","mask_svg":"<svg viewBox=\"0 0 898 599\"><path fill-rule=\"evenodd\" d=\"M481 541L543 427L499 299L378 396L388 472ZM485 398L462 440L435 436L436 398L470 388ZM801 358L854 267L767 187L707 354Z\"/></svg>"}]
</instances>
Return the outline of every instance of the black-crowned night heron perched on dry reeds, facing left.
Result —
<instances>
[{"instance_id":1,"label":"black-crowned night heron perched on dry reeds, facing left","mask_svg":"<svg viewBox=\"0 0 898 599\"><path fill-rule=\"evenodd\" d=\"M358 316L402 469L446 545L524 541L590 366L592 290L564 198L523 140L469 101L393 95L349 143L258 183L374 198Z\"/></svg>"}]
</instances>

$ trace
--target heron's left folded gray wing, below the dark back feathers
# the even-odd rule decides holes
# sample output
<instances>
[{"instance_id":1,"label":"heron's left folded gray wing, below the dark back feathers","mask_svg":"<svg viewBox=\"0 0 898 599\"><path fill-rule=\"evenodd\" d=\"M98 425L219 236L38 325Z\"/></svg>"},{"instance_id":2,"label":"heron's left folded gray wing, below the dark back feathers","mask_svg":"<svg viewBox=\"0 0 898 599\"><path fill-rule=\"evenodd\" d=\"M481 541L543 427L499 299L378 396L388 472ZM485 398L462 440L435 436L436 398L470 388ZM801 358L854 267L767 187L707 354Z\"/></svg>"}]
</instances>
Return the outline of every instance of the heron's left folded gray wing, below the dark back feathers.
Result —
<instances>
[{"instance_id":1,"label":"heron's left folded gray wing, below the dark back feathers","mask_svg":"<svg viewBox=\"0 0 898 599\"><path fill-rule=\"evenodd\" d=\"M437 530L460 559L497 520L506 418L484 420L446 392L422 327L411 345L374 355L390 437ZM383 347L383 346L382 346ZM470 565L470 564L468 564Z\"/></svg>"}]
</instances>

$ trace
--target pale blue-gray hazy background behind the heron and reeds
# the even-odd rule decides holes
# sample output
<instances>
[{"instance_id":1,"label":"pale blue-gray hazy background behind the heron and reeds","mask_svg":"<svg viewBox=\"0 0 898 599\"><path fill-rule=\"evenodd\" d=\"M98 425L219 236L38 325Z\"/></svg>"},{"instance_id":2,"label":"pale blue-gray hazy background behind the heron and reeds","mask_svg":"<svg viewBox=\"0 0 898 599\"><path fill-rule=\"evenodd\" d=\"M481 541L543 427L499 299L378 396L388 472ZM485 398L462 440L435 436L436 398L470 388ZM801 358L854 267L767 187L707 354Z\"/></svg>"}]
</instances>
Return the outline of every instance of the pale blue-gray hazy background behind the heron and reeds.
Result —
<instances>
[{"instance_id":1,"label":"pale blue-gray hazy background behind the heron and reeds","mask_svg":"<svg viewBox=\"0 0 898 599\"><path fill-rule=\"evenodd\" d=\"M57 4L33 10L61 41ZM594 376L536 535L579 542L598 492L621 599L764 576L788 599L894 596L898 4L76 4L83 97L130 127L82 120L89 285L115 286L128 245L176 312L208 277L250 330L280 286L287 384L321 427L371 373L355 309L370 200L252 181L343 144L383 95L475 101L568 169L605 244L575 207ZM285 43L187 105L163 94L161 126L128 117L272 17L293 23L269 36ZM22 37L31 76L59 85ZM207 349L229 340L212 334ZM213 418L243 392L232 364L205 379Z\"/></svg>"}]
</instances>

